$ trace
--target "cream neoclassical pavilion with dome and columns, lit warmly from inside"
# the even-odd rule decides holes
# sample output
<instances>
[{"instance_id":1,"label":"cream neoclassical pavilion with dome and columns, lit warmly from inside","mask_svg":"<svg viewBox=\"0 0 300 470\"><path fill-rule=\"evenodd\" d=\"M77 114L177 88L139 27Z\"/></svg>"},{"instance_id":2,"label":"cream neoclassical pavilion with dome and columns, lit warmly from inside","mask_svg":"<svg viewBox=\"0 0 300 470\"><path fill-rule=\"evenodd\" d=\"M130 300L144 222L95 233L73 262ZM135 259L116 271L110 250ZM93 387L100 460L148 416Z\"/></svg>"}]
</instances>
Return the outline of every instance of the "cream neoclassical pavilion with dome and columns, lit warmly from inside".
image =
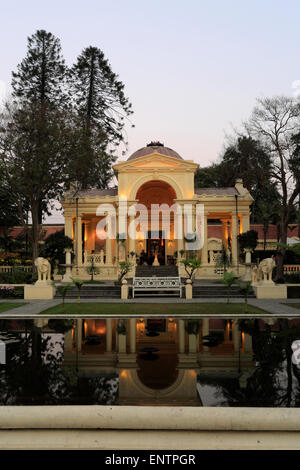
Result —
<instances>
[{"instance_id":1,"label":"cream neoclassical pavilion with dome and columns, lit warmly from inside","mask_svg":"<svg viewBox=\"0 0 300 470\"><path fill-rule=\"evenodd\" d=\"M177 264L180 274L184 275L179 260L192 255L202 262L197 276L214 277L215 260L222 245L230 251L233 267L242 272L237 235L249 230L253 199L239 180L235 187L195 188L197 168L197 163L185 160L171 148L158 142L151 143L134 152L126 161L114 165L117 188L71 189L66 193L62 201L65 234L74 241L79 275L83 278L88 276L86 267L91 256L101 267L101 278L116 279L119 261L131 259L134 264L139 264L141 256L142 261L148 264L152 264L155 257L160 265ZM126 204L125 216L123 204ZM137 204L148 210L142 220L137 217ZM157 212L154 214L153 205L176 205L177 213L170 212L169 230L165 229L162 217ZM102 211L99 211L99 206ZM113 208L114 223L110 222L106 207ZM202 207L203 211L201 243L195 249L189 237L200 235L197 233L200 230L197 207ZM190 215L188 222L187 212ZM101 228L105 217L106 225ZM150 226L153 219L156 221L155 231ZM219 234L209 234L208 225L211 223L218 224ZM136 228L136 237L130 236L130 226Z\"/></svg>"}]
</instances>

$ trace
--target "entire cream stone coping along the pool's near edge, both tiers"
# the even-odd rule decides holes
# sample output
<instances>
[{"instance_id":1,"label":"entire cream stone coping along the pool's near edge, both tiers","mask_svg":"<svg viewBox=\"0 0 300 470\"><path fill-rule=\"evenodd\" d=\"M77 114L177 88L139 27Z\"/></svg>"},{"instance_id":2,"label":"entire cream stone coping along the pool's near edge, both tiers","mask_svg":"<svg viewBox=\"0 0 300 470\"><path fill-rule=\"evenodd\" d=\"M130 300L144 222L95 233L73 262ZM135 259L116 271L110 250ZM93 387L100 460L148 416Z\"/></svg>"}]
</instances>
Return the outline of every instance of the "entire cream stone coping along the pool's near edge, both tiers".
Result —
<instances>
[{"instance_id":1,"label":"entire cream stone coping along the pool's near edge, both tiers","mask_svg":"<svg viewBox=\"0 0 300 470\"><path fill-rule=\"evenodd\" d=\"M2 406L0 449L300 449L300 409Z\"/></svg>"}]
</instances>

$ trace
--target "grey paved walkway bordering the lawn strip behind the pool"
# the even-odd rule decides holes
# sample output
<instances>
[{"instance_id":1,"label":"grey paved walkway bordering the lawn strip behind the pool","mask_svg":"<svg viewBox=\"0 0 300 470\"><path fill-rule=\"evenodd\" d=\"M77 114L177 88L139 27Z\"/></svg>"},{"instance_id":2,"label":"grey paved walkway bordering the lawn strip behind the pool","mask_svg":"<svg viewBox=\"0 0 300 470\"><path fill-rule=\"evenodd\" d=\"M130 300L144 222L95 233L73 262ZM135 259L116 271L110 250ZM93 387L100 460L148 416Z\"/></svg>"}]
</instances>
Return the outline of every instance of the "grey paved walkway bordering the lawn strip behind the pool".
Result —
<instances>
[{"instance_id":1,"label":"grey paved walkway bordering the lawn strip behind the pool","mask_svg":"<svg viewBox=\"0 0 300 470\"><path fill-rule=\"evenodd\" d=\"M0 300L0 303L3 302L10 302L10 303L22 303L26 302L23 299L5 299ZM94 299L81 299L81 303L184 303L184 304L195 304L195 303L226 303L226 298L217 298L217 299L180 299L177 297L174 298L166 298L166 297L156 297L156 298L138 298L138 299L128 299L128 300L121 300L121 299L104 299L104 298L94 298ZM243 303L243 299L231 299L231 303ZM22 316L35 316L43 312L44 310L54 307L61 303L61 299L53 299L53 300L29 300L27 301L26 305L22 305L20 307L16 307L10 310L6 310L5 312L0 313L0 316L4 318L12 317L22 317ZM77 299L67 299L66 303L77 303ZM271 315L287 315L287 316L300 316L300 309L289 307L285 305L286 303L300 303L300 299L283 299L283 300L263 300L263 299L249 299L249 305L253 305L255 307L259 307ZM89 315L91 316L91 315ZM215 315L214 315L215 316ZM222 316L222 315L221 315ZM242 315L245 316L245 315ZM249 316L249 315L247 315ZM253 315L250 315L253 316ZM228 314L227 314L228 317Z\"/></svg>"}]
</instances>

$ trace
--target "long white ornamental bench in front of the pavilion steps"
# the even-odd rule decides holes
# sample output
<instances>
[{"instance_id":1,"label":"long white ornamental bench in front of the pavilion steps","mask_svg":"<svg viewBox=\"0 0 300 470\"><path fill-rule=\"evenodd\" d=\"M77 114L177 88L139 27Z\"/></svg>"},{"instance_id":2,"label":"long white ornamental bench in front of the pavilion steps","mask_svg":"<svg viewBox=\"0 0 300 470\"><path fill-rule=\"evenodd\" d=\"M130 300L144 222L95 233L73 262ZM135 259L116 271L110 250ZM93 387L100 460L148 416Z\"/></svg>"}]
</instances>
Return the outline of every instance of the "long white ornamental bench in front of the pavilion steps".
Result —
<instances>
[{"instance_id":1,"label":"long white ornamental bench in front of the pavilion steps","mask_svg":"<svg viewBox=\"0 0 300 470\"><path fill-rule=\"evenodd\" d=\"M132 298L136 295L176 295L182 297L180 277L134 277L132 283Z\"/></svg>"}]
</instances>

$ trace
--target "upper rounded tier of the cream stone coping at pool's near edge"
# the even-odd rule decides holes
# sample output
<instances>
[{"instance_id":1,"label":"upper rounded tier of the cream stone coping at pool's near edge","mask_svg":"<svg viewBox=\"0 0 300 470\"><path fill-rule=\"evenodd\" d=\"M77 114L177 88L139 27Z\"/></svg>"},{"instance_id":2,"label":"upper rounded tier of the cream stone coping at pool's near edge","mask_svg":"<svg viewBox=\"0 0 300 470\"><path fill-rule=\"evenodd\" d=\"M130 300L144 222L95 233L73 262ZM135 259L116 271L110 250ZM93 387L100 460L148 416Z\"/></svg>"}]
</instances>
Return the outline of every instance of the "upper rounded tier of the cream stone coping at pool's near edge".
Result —
<instances>
[{"instance_id":1,"label":"upper rounded tier of the cream stone coping at pool's near edge","mask_svg":"<svg viewBox=\"0 0 300 470\"><path fill-rule=\"evenodd\" d=\"M0 429L297 431L300 408L1 406Z\"/></svg>"}]
</instances>

